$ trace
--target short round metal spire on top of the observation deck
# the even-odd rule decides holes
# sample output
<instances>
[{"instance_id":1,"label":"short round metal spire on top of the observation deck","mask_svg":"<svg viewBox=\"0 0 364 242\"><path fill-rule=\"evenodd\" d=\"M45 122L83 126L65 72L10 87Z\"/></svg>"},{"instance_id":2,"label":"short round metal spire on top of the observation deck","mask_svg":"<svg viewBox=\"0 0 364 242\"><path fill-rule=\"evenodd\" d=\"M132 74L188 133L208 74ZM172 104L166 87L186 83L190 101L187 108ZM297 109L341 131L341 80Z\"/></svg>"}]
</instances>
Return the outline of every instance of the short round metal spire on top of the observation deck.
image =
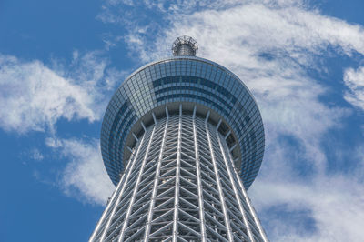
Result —
<instances>
[{"instance_id":1,"label":"short round metal spire on top of the observation deck","mask_svg":"<svg viewBox=\"0 0 364 242\"><path fill-rule=\"evenodd\" d=\"M192 37L183 35L180 37L177 37L175 42L173 42L172 45L172 52L173 55L192 55L196 56L198 50L198 45L196 40L194 40Z\"/></svg>"}]
</instances>

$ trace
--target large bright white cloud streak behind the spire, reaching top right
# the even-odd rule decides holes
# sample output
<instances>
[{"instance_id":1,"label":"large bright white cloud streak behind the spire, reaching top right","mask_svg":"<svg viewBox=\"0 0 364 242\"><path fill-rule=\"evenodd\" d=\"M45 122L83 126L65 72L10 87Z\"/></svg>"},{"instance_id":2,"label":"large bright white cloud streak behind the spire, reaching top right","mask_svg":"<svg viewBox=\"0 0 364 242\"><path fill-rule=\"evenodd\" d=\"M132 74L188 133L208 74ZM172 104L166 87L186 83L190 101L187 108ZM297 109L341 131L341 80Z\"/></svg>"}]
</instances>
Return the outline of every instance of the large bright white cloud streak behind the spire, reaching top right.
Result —
<instances>
[{"instance_id":1,"label":"large bright white cloud streak behind the spire, reaching top right","mask_svg":"<svg viewBox=\"0 0 364 242\"><path fill-rule=\"evenodd\" d=\"M162 33L140 35L138 29L146 26L137 25L131 31L130 39L138 41L131 44L135 46L136 54L144 56L145 53L140 51L147 50L149 61L161 55L170 55L169 46L178 35L191 35L200 44L200 56L218 60L227 66L238 62L239 66L259 69L262 69L262 62L256 55L265 52L273 53L275 57L290 57L306 65L311 64L312 54L322 54L328 45L338 47L339 51L349 55L353 50L364 53L362 26L349 25L291 2L248 1L244 5L230 8L216 6L213 10L188 15L177 12L167 15L172 27L167 31L159 29ZM143 37L153 36L159 39L156 45L153 45L155 39L151 43L147 39L141 41ZM275 65L274 62L264 64L269 69Z\"/></svg>"}]
</instances>

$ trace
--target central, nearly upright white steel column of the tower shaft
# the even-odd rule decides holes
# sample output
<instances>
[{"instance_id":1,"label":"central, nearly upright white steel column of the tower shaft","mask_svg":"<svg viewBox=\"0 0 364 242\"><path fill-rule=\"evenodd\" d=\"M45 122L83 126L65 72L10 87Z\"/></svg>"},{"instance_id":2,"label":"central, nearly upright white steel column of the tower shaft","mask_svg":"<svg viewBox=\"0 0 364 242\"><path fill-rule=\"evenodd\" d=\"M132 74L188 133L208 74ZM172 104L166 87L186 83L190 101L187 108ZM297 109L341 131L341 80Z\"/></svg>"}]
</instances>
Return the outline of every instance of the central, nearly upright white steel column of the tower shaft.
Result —
<instances>
[{"instance_id":1,"label":"central, nearly upright white steel column of the tower shaft","mask_svg":"<svg viewBox=\"0 0 364 242\"><path fill-rule=\"evenodd\" d=\"M178 138L177 138L177 164L175 184L175 212L173 216L173 242L177 242L178 236L178 207L179 207L179 176L181 168L181 133L182 133L182 105L179 105Z\"/></svg>"}]
</instances>

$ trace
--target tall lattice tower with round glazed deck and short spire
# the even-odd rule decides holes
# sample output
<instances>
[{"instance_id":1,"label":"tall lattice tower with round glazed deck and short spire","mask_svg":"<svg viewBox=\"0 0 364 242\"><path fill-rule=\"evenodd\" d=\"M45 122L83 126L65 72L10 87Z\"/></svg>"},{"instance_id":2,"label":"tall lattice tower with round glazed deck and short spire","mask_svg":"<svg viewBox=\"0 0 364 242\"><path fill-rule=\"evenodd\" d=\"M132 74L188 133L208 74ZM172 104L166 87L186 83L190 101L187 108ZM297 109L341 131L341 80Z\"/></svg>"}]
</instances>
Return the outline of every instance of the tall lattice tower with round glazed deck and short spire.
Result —
<instances>
[{"instance_id":1,"label":"tall lattice tower with round glazed deck and short spire","mask_svg":"<svg viewBox=\"0 0 364 242\"><path fill-rule=\"evenodd\" d=\"M90 241L268 241L246 192L264 153L257 103L191 37L172 51L107 106L101 150L116 190Z\"/></svg>"}]
</instances>

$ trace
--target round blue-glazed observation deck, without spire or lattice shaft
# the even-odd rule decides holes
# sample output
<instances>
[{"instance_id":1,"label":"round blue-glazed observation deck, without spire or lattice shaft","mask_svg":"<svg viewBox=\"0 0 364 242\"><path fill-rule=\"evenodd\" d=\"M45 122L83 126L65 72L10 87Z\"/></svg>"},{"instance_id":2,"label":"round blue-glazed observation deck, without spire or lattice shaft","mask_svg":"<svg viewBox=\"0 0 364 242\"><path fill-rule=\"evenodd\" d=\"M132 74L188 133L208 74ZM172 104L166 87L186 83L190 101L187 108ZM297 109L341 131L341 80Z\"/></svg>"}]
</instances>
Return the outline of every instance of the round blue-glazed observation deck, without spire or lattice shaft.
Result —
<instances>
[{"instance_id":1,"label":"round blue-glazed observation deck, without spire or lattice shaft","mask_svg":"<svg viewBox=\"0 0 364 242\"><path fill-rule=\"evenodd\" d=\"M101 130L101 151L107 174L116 185L147 126L174 113L197 107L226 137L244 187L248 189L264 153L264 128L254 97L247 86L214 62L177 55L147 64L118 87L107 106Z\"/></svg>"}]
</instances>

